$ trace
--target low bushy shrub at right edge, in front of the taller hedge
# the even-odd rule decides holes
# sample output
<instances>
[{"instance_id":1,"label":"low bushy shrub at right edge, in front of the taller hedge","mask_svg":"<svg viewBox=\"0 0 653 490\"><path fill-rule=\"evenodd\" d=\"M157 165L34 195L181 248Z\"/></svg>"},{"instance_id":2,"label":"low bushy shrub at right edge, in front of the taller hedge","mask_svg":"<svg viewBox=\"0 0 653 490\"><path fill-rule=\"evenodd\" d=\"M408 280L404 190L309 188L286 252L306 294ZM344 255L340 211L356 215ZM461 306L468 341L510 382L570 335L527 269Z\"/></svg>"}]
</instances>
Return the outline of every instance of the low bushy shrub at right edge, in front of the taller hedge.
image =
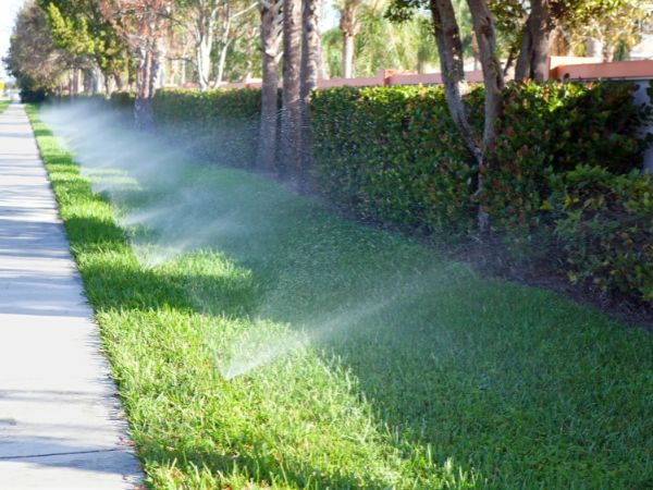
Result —
<instances>
[{"instance_id":1,"label":"low bushy shrub at right edge, in front of the taller hedge","mask_svg":"<svg viewBox=\"0 0 653 490\"><path fill-rule=\"evenodd\" d=\"M579 167L556 183L554 231L569 280L653 302L653 175Z\"/></svg>"}]
</instances>

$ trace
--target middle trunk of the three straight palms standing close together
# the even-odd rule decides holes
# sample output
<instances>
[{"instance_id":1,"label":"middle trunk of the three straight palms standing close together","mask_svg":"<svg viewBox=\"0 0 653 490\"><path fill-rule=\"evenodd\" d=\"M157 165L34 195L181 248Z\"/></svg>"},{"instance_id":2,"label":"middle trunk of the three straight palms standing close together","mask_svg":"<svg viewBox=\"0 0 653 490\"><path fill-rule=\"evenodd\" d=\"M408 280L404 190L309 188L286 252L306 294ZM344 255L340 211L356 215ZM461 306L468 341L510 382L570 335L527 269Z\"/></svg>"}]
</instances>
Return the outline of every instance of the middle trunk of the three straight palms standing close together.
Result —
<instances>
[{"instance_id":1,"label":"middle trunk of the three straight palms standing close together","mask_svg":"<svg viewBox=\"0 0 653 490\"><path fill-rule=\"evenodd\" d=\"M281 114L281 164L285 176L301 175L301 0L283 3L283 111Z\"/></svg>"}]
</instances>

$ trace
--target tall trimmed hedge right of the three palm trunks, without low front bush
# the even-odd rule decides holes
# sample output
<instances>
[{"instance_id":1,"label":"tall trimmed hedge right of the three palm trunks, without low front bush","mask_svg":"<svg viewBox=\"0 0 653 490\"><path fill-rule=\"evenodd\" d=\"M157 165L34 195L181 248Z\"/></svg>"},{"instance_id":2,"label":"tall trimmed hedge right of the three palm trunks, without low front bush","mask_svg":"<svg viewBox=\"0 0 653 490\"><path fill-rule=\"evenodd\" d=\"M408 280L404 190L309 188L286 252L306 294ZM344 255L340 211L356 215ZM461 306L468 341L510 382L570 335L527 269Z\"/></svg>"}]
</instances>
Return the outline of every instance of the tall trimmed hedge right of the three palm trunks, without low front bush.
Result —
<instances>
[{"instance_id":1,"label":"tall trimmed hedge right of the three palm trunks, without low front bush","mask_svg":"<svg viewBox=\"0 0 653 490\"><path fill-rule=\"evenodd\" d=\"M625 172L640 161L643 113L629 84L510 85L481 203L494 230L526 240L550 177L578 163ZM469 96L481 130L482 89ZM312 96L318 187L364 218L446 236L473 229L476 168L441 87L336 88Z\"/></svg>"}]
</instances>

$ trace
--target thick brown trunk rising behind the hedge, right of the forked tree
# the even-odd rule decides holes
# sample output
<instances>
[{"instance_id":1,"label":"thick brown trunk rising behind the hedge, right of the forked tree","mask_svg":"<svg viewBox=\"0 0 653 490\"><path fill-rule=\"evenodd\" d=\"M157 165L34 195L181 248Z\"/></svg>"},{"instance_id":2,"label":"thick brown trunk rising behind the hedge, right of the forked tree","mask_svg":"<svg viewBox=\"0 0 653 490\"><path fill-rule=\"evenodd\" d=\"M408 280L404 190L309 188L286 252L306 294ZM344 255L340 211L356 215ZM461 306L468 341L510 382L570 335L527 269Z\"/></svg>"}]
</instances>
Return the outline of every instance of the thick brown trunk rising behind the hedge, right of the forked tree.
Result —
<instances>
[{"instance_id":1,"label":"thick brown trunk rising behind the hedge, right of the forked tree","mask_svg":"<svg viewBox=\"0 0 653 490\"><path fill-rule=\"evenodd\" d=\"M549 0L531 0L531 12L526 22L515 79L526 78L543 83L549 78L549 48L554 28Z\"/></svg>"}]
</instances>

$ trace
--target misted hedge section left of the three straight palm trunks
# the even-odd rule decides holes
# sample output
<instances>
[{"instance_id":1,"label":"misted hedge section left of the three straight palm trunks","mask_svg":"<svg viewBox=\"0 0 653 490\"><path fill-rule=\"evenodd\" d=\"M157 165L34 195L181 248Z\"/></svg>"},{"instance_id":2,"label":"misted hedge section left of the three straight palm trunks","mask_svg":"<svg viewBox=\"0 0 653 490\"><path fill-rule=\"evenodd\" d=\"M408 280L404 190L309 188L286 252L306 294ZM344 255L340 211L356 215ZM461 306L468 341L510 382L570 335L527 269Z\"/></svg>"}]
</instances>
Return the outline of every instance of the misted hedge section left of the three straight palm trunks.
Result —
<instances>
[{"instance_id":1,"label":"misted hedge section left of the three straight palm trunks","mask_svg":"<svg viewBox=\"0 0 653 490\"><path fill-rule=\"evenodd\" d=\"M200 158L251 168L260 99L256 89L158 90L155 127L165 137L184 142Z\"/></svg>"}]
</instances>

